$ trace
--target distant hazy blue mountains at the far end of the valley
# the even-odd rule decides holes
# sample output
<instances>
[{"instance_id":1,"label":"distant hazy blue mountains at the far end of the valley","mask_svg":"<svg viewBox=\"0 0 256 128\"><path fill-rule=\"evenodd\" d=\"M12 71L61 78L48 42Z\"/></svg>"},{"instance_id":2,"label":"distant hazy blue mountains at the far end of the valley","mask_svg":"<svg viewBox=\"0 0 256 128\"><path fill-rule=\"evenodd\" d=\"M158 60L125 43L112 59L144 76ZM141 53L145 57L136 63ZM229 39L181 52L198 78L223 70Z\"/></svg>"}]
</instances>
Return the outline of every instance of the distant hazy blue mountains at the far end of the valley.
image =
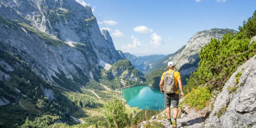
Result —
<instances>
[{"instance_id":1,"label":"distant hazy blue mountains at the far end of the valley","mask_svg":"<svg viewBox=\"0 0 256 128\"><path fill-rule=\"evenodd\" d=\"M131 61L132 65L136 69L142 72L147 71L149 68L149 63L158 61L159 59L165 57L165 55L135 56L130 53L124 53L124 56Z\"/></svg>"}]
</instances>

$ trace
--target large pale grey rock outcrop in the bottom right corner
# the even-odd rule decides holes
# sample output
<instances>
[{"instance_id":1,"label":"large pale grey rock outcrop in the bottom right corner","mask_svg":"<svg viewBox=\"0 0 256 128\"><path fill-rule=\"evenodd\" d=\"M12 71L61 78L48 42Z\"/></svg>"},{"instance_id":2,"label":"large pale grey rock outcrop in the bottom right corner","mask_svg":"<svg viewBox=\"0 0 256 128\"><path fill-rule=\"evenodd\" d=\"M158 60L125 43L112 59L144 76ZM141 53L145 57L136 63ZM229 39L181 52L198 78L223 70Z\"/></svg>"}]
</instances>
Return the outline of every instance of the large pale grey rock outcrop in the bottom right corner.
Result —
<instances>
[{"instance_id":1,"label":"large pale grey rock outcrop in the bottom right corner","mask_svg":"<svg viewBox=\"0 0 256 128\"><path fill-rule=\"evenodd\" d=\"M223 91L218 94L205 127L256 127L255 63L256 55L232 74Z\"/></svg>"}]
</instances>

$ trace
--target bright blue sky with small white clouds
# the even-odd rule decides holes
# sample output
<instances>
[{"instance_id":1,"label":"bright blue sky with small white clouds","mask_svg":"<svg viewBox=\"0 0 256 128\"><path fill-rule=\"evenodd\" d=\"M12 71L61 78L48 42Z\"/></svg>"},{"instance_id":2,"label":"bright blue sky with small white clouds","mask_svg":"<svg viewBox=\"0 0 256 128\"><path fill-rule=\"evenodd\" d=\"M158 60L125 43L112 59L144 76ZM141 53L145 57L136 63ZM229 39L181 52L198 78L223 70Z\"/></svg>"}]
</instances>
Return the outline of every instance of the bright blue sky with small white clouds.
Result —
<instances>
[{"instance_id":1,"label":"bright blue sky with small white clouds","mask_svg":"<svg viewBox=\"0 0 256 128\"><path fill-rule=\"evenodd\" d=\"M256 10L256 0L76 1L91 6L117 50L133 54L174 53L198 31L238 30Z\"/></svg>"}]
</instances>

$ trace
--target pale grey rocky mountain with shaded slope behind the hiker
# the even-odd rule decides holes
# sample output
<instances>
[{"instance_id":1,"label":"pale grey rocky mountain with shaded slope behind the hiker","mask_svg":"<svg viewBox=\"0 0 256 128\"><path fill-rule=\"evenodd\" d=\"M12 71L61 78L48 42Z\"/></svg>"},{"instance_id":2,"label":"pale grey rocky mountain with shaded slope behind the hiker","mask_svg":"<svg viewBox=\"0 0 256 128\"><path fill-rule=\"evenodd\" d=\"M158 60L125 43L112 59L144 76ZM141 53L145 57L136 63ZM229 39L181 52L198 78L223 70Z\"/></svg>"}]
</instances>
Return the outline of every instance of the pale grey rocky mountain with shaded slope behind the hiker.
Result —
<instances>
[{"instance_id":1,"label":"pale grey rocky mountain with shaded slope behind the hiker","mask_svg":"<svg viewBox=\"0 0 256 128\"><path fill-rule=\"evenodd\" d=\"M200 49L208 44L211 40L211 38L215 38L217 40L222 39L222 36L224 34L227 34L229 32L237 33L236 30L233 29L218 29L213 28L210 30L204 30L195 33L187 42L185 46L180 48L177 52L174 54L167 55L165 58L155 61L153 63L150 63L150 68L145 72L145 74L148 74L147 77L159 77L161 76L159 71L156 70L167 70L167 63L169 61L174 61L175 63L175 69L176 71L179 71L181 73L182 77L182 83L186 85L186 79L189 77L191 72L194 72L198 67L198 62L200 61L200 58L198 57L198 54L200 52ZM158 72L159 74L156 74L155 72ZM151 73L152 72L152 73ZM155 88L159 88L158 84L160 80L152 81L152 79L148 79L150 81L147 81L148 84L153 85Z\"/></svg>"}]
</instances>

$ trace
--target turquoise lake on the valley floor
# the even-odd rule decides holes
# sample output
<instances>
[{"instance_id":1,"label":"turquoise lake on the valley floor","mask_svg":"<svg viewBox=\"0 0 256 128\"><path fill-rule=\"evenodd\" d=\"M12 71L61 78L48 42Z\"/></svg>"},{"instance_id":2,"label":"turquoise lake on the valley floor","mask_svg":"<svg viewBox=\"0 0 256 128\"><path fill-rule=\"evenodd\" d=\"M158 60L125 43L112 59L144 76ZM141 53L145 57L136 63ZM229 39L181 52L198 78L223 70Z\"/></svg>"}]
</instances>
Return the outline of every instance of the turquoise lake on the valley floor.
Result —
<instances>
[{"instance_id":1,"label":"turquoise lake on the valley floor","mask_svg":"<svg viewBox=\"0 0 256 128\"><path fill-rule=\"evenodd\" d=\"M153 89L147 85L121 89L123 98L131 107L139 109L164 109L163 94L159 89Z\"/></svg>"}]
</instances>

